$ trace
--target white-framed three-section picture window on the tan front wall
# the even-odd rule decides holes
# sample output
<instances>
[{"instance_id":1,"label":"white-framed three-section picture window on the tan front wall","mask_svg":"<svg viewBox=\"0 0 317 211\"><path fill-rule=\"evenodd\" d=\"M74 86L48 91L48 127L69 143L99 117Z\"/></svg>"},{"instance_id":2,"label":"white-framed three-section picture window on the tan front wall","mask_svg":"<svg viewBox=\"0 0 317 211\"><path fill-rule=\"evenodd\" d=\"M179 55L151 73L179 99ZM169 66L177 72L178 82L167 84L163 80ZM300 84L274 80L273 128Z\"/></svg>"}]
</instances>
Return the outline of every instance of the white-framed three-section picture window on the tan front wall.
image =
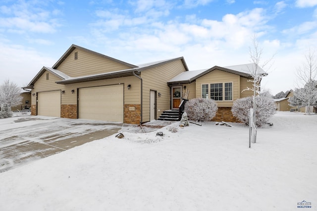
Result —
<instances>
[{"instance_id":1,"label":"white-framed three-section picture window on the tan front wall","mask_svg":"<svg viewBox=\"0 0 317 211\"><path fill-rule=\"evenodd\" d=\"M232 100L232 83L202 84L202 98Z\"/></svg>"}]
</instances>

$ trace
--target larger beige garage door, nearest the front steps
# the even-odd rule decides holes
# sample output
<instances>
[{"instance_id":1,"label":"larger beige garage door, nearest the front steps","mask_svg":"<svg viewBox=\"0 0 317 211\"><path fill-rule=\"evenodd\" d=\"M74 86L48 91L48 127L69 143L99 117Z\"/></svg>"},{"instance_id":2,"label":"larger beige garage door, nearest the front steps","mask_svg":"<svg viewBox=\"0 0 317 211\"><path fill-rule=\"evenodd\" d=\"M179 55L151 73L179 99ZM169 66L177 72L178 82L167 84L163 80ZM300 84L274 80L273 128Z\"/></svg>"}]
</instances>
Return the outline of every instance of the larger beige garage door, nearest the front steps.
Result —
<instances>
[{"instance_id":1,"label":"larger beige garage door, nearest the front steps","mask_svg":"<svg viewBox=\"0 0 317 211\"><path fill-rule=\"evenodd\" d=\"M123 122L123 84L80 88L79 118Z\"/></svg>"}]
</instances>

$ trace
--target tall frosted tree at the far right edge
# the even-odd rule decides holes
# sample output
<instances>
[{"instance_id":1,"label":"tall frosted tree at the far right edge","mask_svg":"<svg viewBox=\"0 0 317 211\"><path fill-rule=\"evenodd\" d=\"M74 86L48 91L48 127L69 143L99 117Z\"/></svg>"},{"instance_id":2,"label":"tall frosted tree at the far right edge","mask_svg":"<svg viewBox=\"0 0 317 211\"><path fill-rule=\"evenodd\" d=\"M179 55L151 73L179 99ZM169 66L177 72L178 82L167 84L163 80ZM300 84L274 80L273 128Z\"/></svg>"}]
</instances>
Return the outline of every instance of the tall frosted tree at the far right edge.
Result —
<instances>
[{"instance_id":1,"label":"tall frosted tree at the far right edge","mask_svg":"<svg viewBox=\"0 0 317 211\"><path fill-rule=\"evenodd\" d=\"M317 101L317 59L315 50L309 48L305 55L305 62L296 70L297 85L302 88L295 88L294 97L296 96L302 102L302 105L308 106L307 111L310 115L310 106L316 104Z\"/></svg>"}]
</instances>

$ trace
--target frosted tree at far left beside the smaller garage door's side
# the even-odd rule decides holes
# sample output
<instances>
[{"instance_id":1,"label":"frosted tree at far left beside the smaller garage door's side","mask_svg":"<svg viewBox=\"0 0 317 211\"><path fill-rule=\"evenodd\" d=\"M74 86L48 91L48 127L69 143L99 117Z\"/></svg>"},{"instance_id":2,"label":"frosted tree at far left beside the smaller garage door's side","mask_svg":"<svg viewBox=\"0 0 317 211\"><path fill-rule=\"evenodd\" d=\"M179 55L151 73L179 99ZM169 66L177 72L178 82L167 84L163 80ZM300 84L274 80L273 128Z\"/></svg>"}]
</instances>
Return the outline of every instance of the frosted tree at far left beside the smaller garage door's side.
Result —
<instances>
[{"instance_id":1,"label":"frosted tree at far left beside the smaller garage door's side","mask_svg":"<svg viewBox=\"0 0 317 211\"><path fill-rule=\"evenodd\" d=\"M12 107L21 104L21 101L21 88L13 82L5 80L0 85L0 105L8 104L9 107Z\"/></svg>"}]
</instances>

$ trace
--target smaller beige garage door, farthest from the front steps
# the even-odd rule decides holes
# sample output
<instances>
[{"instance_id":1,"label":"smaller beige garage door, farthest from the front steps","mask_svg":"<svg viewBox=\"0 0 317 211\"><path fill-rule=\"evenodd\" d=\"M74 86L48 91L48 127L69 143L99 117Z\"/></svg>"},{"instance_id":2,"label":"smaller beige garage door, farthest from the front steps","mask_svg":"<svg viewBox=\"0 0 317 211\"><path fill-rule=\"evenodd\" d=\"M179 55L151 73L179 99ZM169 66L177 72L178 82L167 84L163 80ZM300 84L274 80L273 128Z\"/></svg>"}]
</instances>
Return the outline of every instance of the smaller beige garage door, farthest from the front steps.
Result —
<instances>
[{"instance_id":1,"label":"smaller beige garage door, farthest from the front steps","mask_svg":"<svg viewBox=\"0 0 317 211\"><path fill-rule=\"evenodd\" d=\"M38 93L38 115L60 117L60 90Z\"/></svg>"}]
</instances>

